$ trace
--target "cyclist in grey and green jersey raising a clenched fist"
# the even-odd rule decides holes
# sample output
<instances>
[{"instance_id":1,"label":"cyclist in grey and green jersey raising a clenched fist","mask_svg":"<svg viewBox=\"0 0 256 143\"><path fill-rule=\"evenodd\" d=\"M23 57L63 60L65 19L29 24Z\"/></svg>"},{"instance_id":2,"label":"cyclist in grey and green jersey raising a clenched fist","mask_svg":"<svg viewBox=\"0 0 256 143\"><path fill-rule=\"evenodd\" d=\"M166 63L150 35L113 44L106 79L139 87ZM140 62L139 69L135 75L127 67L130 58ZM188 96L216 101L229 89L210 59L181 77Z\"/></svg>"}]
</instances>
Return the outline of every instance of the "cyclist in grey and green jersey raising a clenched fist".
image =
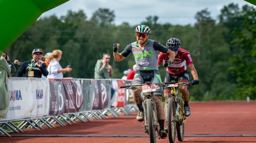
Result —
<instances>
[{"instance_id":1,"label":"cyclist in grey and green jersey raising a clenched fist","mask_svg":"<svg viewBox=\"0 0 256 143\"><path fill-rule=\"evenodd\" d=\"M166 62L165 67L169 66L174 60L175 53L170 49L164 47L159 42L148 39L150 29L146 25L139 25L135 28L136 32L136 41L126 46L123 52L118 53L117 49L120 44L113 44L113 54L117 62L122 61L130 53L133 53L135 62L137 65L137 70L132 80L132 85L143 84L146 81L151 83L161 82L160 73L158 71L157 59L158 51L166 53L169 55L169 61ZM143 106L142 106L142 97L140 95L141 89L134 88L133 99L139 108L139 113L137 120L142 122L144 120ZM155 94L156 100L156 110L157 110L157 119L160 126L160 136L164 139L167 136L167 133L164 131L164 109L162 106L162 87L157 89Z\"/></svg>"}]
</instances>

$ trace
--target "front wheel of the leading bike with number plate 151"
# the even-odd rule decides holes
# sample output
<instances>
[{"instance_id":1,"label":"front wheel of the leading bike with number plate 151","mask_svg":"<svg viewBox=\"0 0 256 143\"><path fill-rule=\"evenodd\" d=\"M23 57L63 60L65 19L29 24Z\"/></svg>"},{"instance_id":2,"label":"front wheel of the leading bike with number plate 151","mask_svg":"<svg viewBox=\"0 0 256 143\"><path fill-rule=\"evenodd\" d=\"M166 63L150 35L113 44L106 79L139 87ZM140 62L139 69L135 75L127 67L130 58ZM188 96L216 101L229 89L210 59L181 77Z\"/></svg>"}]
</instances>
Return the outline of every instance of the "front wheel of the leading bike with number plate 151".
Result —
<instances>
[{"instance_id":1,"label":"front wheel of the leading bike with number plate 151","mask_svg":"<svg viewBox=\"0 0 256 143\"><path fill-rule=\"evenodd\" d=\"M148 118L148 135L150 143L156 143L156 128L154 123L154 115L153 115L153 104L151 99L147 99L147 118Z\"/></svg>"}]
</instances>

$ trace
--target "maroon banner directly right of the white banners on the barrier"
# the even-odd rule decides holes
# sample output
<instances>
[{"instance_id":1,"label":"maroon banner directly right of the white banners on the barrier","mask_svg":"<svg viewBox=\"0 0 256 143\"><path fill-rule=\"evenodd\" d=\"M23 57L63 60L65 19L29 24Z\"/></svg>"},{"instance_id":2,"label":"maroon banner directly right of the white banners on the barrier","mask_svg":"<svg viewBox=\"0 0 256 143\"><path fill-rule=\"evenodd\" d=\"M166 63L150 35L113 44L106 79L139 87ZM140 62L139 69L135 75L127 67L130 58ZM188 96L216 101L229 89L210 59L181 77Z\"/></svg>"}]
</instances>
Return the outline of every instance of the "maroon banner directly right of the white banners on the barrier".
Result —
<instances>
[{"instance_id":1,"label":"maroon banner directly right of the white banners on the barrier","mask_svg":"<svg viewBox=\"0 0 256 143\"><path fill-rule=\"evenodd\" d=\"M50 93L51 93L51 105L49 115L59 116L63 115L65 111L66 95L62 90L61 79L49 79Z\"/></svg>"}]
</instances>

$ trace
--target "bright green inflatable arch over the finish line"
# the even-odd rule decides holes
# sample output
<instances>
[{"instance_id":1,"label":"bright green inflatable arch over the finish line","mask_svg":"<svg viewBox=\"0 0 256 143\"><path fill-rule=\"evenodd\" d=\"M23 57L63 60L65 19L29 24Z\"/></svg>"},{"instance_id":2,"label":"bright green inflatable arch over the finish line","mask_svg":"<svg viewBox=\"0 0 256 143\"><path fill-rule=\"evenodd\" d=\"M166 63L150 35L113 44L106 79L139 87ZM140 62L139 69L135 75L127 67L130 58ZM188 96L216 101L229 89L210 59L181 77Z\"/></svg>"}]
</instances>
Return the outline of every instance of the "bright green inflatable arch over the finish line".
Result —
<instances>
[{"instance_id":1,"label":"bright green inflatable arch over the finish line","mask_svg":"<svg viewBox=\"0 0 256 143\"><path fill-rule=\"evenodd\" d=\"M45 11L69 0L0 0L0 53ZM256 0L244 0L256 5Z\"/></svg>"}]
</instances>

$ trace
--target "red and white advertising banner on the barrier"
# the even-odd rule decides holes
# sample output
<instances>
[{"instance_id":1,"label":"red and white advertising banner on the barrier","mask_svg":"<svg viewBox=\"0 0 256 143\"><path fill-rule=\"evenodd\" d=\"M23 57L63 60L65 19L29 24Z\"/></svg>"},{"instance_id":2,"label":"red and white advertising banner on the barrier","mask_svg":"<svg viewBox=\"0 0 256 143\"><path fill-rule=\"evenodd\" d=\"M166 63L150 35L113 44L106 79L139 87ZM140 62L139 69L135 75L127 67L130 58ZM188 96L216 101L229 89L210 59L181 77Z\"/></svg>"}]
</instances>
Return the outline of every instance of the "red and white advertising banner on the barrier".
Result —
<instances>
[{"instance_id":1,"label":"red and white advertising banner on the barrier","mask_svg":"<svg viewBox=\"0 0 256 143\"><path fill-rule=\"evenodd\" d=\"M112 79L112 86L115 88L115 100L112 103L114 107L124 107L125 104L125 88L120 88L120 86L124 86L124 80L120 79ZM113 100L112 100L113 101Z\"/></svg>"}]
</instances>

